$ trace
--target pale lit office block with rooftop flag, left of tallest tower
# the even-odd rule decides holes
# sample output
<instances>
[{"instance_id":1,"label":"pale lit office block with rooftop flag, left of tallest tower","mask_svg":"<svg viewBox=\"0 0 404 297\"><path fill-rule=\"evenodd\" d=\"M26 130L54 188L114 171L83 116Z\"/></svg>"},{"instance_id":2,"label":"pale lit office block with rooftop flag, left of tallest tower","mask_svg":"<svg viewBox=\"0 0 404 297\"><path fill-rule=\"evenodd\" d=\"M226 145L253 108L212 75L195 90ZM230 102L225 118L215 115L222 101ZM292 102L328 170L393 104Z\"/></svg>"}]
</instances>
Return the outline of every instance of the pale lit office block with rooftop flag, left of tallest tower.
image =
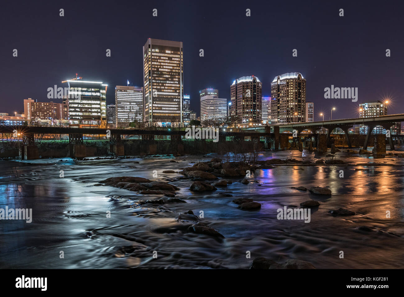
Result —
<instances>
[{"instance_id":1,"label":"pale lit office block with rooftop flag, left of tallest tower","mask_svg":"<svg viewBox=\"0 0 404 297\"><path fill-rule=\"evenodd\" d=\"M115 121L117 127L127 127L133 121L143 122L142 87L115 87Z\"/></svg>"}]
</instances>

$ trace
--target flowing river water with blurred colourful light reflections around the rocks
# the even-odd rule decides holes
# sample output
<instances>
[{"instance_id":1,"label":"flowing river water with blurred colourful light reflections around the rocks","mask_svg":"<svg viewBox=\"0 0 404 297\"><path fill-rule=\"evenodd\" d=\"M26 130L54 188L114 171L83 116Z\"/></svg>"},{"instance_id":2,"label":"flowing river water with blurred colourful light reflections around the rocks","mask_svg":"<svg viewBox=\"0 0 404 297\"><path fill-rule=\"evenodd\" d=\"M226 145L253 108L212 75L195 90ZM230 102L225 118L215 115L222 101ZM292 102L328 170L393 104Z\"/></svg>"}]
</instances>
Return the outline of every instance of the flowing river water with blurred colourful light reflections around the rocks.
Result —
<instances>
[{"instance_id":1,"label":"flowing river water with blurred colourful light reflections around the rocks","mask_svg":"<svg viewBox=\"0 0 404 297\"><path fill-rule=\"evenodd\" d=\"M305 159L320 157L306 151L303 154ZM0 161L0 208L32 208L33 213L31 223L0 220L0 268L249 268L256 257L279 262L301 259L316 268L403 268L404 159L338 154L356 165L276 166L257 170L252 175L256 182L244 185L240 178L230 178L233 184L201 193L189 190L191 180L178 180L182 175L161 172L181 171L178 169L215 155ZM302 153L260 155L260 159L290 157L301 158ZM178 163L170 162L172 159ZM153 177L154 170L157 177ZM94 186L112 176L171 182L180 188L176 197L187 203L139 205L139 199L161 195L145 197L120 188ZM332 196L291 188L297 186L328 187ZM239 197L251 198L262 207L240 210L231 203ZM309 199L321 203L311 209L309 223L277 219L277 209ZM341 207L357 214L342 217L328 213ZM203 211L202 222L225 238L181 228L178 213L189 209L196 215ZM386 218L386 211L390 218ZM358 226L395 235L360 231ZM246 257L248 251L251 258Z\"/></svg>"}]
</instances>

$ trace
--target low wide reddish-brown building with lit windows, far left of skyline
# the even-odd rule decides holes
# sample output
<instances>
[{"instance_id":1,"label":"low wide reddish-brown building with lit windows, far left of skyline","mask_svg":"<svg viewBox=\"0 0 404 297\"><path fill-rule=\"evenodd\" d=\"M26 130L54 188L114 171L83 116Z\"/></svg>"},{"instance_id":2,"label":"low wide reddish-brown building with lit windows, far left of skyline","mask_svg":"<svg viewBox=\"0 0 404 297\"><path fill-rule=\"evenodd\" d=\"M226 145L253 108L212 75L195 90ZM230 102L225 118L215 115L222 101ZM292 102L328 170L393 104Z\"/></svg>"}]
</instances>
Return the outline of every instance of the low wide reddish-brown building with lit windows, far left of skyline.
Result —
<instances>
[{"instance_id":1,"label":"low wide reddish-brown building with lit windows, far left of skyline","mask_svg":"<svg viewBox=\"0 0 404 297\"><path fill-rule=\"evenodd\" d=\"M27 121L67 120L69 118L68 108L66 103L36 102L36 100L28 98L24 99L24 118Z\"/></svg>"}]
</instances>

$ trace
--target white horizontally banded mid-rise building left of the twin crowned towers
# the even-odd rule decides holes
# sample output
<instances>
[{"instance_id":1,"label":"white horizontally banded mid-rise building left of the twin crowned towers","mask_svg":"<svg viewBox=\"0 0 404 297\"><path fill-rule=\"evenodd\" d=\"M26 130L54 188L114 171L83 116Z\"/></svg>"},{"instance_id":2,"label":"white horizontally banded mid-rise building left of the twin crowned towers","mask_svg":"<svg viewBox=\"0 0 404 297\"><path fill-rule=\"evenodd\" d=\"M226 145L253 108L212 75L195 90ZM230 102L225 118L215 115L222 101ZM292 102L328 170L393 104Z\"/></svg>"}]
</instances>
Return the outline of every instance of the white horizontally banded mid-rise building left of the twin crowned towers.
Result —
<instances>
[{"instance_id":1,"label":"white horizontally banded mid-rise building left of the twin crowned towers","mask_svg":"<svg viewBox=\"0 0 404 297\"><path fill-rule=\"evenodd\" d=\"M212 95L200 99L201 121L226 121L227 99L214 98Z\"/></svg>"}]
</instances>

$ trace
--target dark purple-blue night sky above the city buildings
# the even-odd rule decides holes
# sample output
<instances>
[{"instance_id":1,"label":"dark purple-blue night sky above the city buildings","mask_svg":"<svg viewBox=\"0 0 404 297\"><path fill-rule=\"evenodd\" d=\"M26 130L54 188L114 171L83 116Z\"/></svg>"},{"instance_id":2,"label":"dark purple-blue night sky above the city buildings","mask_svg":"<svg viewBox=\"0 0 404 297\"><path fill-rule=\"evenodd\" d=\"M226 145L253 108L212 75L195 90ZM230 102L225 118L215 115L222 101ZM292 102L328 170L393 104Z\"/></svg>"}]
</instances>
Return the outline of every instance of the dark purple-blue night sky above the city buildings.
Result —
<instances>
[{"instance_id":1,"label":"dark purple-blue night sky above the city buildings","mask_svg":"<svg viewBox=\"0 0 404 297\"><path fill-rule=\"evenodd\" d=\"M360 102L387 96L388 113L404 113L404 2L374 3L7 1L0 8L0 112L23 111L25 98L50 101L47 88L66 86L61 81L76 73L108 84L107 104L114 103L116 85L128 79L143 86L142 46L156 38L183 42L184 92L198 114L203 88L217 88L219 97L229 100L234 79L255 75L263 95L270 96L272 80L286 72L307 79L306 100L315 103L315 120L319 111L328 119L332 106L333 119L357 117ZM111 57L105 56L107 48ZM324 99L324 88L332 84L357 87L358 102Z\"/></svg>"}]
</instances>

